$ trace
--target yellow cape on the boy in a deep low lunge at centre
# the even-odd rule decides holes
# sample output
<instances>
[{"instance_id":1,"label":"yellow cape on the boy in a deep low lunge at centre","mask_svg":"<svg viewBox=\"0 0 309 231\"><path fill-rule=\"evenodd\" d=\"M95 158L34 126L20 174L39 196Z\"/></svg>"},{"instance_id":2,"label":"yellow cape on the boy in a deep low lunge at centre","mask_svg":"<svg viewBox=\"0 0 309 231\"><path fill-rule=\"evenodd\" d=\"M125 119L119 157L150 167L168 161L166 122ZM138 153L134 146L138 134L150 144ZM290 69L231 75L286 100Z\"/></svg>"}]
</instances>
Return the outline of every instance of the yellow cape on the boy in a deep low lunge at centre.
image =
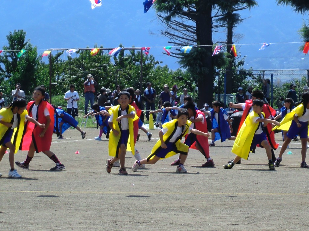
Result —
<instances>
[{"instance_id":1,"label":"yellow cape on the boy in a deep low lunge at centre","mask_svg":"<svg viewBox=\"0 0 309 231\"><path fill-rule=\"evenodd\" d=\"M176 148L177 148L177 152L168 152L167 155L165 156L165 158L168 158L168 157L171 157L171 156L174 156L176 155L177 153L180 153L180 154L187 154L188 151L189 151L189 146L184 144L184 143L181 143L180 140L182 139L182 137L184 137L185 135L187 135L188 131L189 131L189 127L191 125L191 121L188 120L187 123L182 126L182 134L180 137L177 138L176 142L175 142L175 145L176 145ZM165 124L162 125L162 128L167 128L167 132L165 134L163 134L163 140L164 142L168 142L172 136L174 135L174 133L176 132L176 129L178 127L178 120L171 120ZM155 144L155 146L152 148L151 150L151 154L147 157L147 161L153 159L153 157L155 156L155 154L157 152L159 152L161 150L161 140L159 139L157 141L157 143ZM160 158L160 159L165 159L165 158Z\"/></svg>"}]
</instances>

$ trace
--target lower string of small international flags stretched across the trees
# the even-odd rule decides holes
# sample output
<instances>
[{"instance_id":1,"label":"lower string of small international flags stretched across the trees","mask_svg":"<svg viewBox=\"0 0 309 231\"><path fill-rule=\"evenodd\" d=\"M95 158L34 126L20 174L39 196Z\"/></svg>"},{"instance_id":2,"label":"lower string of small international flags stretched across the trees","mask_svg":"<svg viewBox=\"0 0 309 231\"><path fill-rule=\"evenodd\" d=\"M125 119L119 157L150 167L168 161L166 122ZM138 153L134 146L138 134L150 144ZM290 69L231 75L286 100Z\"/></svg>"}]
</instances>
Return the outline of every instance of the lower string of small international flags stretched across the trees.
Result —
<instances>
[{"instance_id":1,"label":"lower string of small international flags stretched across the trees","mask_svg":"<svg viewBox=\"0 0 309 231\"><path fill-rule=\"evenodd\" d=\"M265 50L266 47L268 47L271 43L263 43L263 45L260 47L259 51ZM192 49L194 48L194 46L184 46L180 48L180 52L181 53L189 53ZM212 54L212 56L217 55L220 51L222 51L223 45L217 45L214 48L214 52ZM114 57L117 57L118 53L123 50L123 47L116 47L114 49L112 49L111 51L108 52L109 55L112 55ZM150 47L141 47L142 51L144 52L145 55L148 55L150 52ZM167 46L167 47L163 47L163 50L167 53L167 55L171 54L171 49L172 46ZM0 54L2 53L3 50L0 50ZM21 49L18 53L17 53L17 57L21 57L27 50L25 49ZM48 49L46 51L44 51L44 53L42 54L43 56L48 56L51 52L53 51L53 49ZM74 53L76 53L78 51L78 49L69 49L66 51L67 55L69 55L70 57L72 57L72 55ZM98 52L100 51L100 48L94 48L90 51L90 54L92 56L95 56L96 54L98 54ZM306 42L304 45L304 49L303 49L303 53L307 54L309 51L309 42ZM234 57L237 56L237 51L236 51L236 47L235 44L232 45L231 50L229 51L229 53L231 55L233 55Z\"/></svg>"}]
</instances>

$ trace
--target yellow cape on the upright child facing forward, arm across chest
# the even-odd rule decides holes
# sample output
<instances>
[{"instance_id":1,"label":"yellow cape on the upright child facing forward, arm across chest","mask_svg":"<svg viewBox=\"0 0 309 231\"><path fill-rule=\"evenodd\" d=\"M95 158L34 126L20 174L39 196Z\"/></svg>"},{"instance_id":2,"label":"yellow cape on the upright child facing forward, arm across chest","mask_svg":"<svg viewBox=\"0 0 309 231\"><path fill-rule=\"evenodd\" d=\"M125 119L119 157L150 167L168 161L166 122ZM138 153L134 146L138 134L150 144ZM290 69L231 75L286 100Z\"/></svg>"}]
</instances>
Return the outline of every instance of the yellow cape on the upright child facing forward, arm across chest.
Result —
<instances>
[{"instance_id":1,"label":"yellow cape on the upright child facing forward, arm across chest","mask_svg":"<svg viewBox=\"0 0 309 231\"><path fill-rule=\"evenodd\" d=\"M135 117L128 118L129 122L129 139L128 139L128 145L127 145L127 150L131 151L132 154L134 155L134 134L133 134L133 121L138 119L138 115L136 115L136 111L133 106L128 105L126 109L127 113L130 114L132 111L135 113ZM115 136L113 131L109 133L109 141L108 141L108 155L109 156L116 156L118 157L119 154L119 147L120 147L120 135L121 135L121 129L119 127L119 124L116 119L121 115L121 108L120 104L116 105L114 107L111 107L108 112L110 114L113 114L113 127L115 130L119 132L118 136Z\"/></svg>"}]
</instances>

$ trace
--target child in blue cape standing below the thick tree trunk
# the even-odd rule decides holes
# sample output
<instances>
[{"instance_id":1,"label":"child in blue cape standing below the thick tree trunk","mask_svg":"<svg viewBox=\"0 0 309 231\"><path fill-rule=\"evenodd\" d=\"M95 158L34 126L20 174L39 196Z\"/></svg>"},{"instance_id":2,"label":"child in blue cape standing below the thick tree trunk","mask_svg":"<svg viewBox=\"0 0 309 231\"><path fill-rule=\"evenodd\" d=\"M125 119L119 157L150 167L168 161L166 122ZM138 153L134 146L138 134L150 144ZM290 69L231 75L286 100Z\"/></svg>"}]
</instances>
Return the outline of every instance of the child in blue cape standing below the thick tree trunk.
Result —
<instances>
[{"instance_id":1,"label":"child in blue cape standing below the thick tree trunk","mask_svg":"<svg viewBox=\"0 0 309 231\"><path fill-rule=\"evenodd\" d=\"M213 129L211 129L211 142L209 146L214 147L214 142L216 140L221 140L221 142L228 140L235 140L235 136L231 136L233 132L232 124L226 115L226 111L221 108L221 103L219 101L214 101L212 103L213 109L210 111L204 111L205 115L210 115Z\"/></svg>"}]
</instances>

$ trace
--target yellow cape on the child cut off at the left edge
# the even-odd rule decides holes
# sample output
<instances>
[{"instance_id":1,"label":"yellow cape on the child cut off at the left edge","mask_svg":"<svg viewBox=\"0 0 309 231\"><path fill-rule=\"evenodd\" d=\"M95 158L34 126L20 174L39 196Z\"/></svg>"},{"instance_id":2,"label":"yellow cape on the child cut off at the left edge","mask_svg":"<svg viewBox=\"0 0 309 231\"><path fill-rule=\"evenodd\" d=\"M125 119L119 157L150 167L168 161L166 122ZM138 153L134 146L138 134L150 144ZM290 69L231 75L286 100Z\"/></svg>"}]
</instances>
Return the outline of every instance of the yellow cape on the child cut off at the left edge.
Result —
<instances>
[{"instance_id":1,"label":"yellow cape on the child cut off at the left edge","mask_svg":"<svg viewBox=\"0 0 309 231\"><path fill-rule=\"evenodd\" d=\"M11 123L11 121L13 119L13 112L12 112L11 108L12 107L2 108L0 110L0 115L3 116L2 121ZM14 146L15 146L15 154L19 150L20 142L21 142L21 139L22 139L22 136L23 136L23 129L24 129L24 125L25 125L25 116L26 115L28 115L27 110L24 110L23 113L20 114L20 115L17 114L18 123L17 123L17 127L14 128L14 132L13 132L12 139L11 139L12 144L14 144ZM6 132L9 132L10 129L11 128L8 128L3 124L0 124L1 142L2 142L2 139L4 138L4 136L6 135Z\"/></svg>"}]
</instances>

